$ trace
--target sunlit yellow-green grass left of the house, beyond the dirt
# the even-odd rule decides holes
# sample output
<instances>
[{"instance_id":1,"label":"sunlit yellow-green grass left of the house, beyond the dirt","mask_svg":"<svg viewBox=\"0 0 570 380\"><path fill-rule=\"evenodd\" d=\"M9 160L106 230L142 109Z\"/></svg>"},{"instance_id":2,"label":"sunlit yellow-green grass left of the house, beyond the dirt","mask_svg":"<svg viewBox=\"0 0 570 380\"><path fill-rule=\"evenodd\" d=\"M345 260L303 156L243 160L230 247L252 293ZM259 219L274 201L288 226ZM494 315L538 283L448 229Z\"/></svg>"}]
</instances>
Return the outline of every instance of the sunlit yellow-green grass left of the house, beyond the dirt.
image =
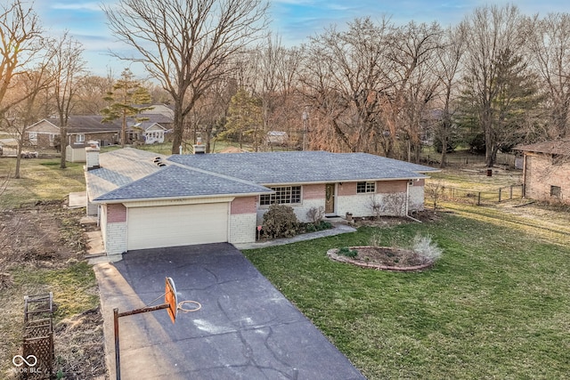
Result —
<instances>
[{"instance_id":1,"label":"sunlit yellow-green grass left of the house, beyond the dirt","mask_svg":"<svg viewBox=\"0 0 570 380\"><path fill-rule=\"evenodd\" d=\"M58 159L22 159L20 179L11 178L0 196L0 210L29 206L37 201L63 200L69 192L85 190L84 164L68 163L60 169ZM0 185L6 174L13 177L16 158L0 159ZM1 192L1 191L0 191Z\"/></svg>"}]
</instances>

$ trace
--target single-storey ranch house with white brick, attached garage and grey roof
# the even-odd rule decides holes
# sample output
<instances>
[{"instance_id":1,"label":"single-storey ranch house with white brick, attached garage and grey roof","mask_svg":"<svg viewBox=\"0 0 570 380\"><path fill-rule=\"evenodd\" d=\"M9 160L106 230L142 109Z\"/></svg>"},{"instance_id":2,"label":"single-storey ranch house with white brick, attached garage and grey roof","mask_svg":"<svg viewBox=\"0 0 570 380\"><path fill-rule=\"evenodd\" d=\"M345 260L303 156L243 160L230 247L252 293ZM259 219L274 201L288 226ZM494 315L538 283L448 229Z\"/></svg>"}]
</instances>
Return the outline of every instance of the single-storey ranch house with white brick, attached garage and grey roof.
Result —
<instances>
[{"instance_id":1,"label":"single-storey ranch house with white brick, attached garage and grey roof","mask_svg":"<svg viewBox=\"0 0 570 380\"><path fill-rule=\"evenodd\" d=\"M87 214L98 215L107 254L255 241L269 206L327 215L406 215L423 208L436 169L364 153L294 151L171 156L86 148ZM400 199L400 202L395 202ZM376 208L374 208L376 207Z\"/></svg>"}]
</instances>

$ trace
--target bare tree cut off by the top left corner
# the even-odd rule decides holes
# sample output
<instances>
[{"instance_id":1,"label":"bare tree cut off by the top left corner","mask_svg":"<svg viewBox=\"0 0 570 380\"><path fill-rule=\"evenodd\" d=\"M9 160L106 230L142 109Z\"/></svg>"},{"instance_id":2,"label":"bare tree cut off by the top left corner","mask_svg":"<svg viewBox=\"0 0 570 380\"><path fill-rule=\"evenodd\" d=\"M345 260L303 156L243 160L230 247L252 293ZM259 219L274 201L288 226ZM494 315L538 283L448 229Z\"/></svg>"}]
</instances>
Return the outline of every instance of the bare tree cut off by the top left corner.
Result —
<instances>
[{"instance_id":1,"label":"bare tree cut off by the top left corner","mask_svg":"<svg viewBox=\"0 0 570 380\"><path fill-rule=\"evenodd\" d=\"M6 101L13 89L13 79L26 73L42 48L42 28L36 12L21 0L0 5L0 117L14 104L24 101L28 93L20 93Z\"/></svg>"}]
</instances>

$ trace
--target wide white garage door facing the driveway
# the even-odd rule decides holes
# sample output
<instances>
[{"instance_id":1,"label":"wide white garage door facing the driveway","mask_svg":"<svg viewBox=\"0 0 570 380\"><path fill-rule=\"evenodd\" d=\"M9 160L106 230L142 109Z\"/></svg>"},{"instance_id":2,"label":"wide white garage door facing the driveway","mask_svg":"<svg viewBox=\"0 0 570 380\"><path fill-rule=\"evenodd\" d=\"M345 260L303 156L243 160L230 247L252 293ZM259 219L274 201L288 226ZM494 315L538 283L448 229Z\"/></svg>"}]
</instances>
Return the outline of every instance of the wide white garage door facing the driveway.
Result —
<instances>
[{"instance_id":1,"label":"wide white garage door facing the driveway","mask_svg":"<svg viewBox=\"0 0 570 380\"><path fill-rule=\"evenodd\" d=\"M130 207L127 249L228 241L228 204Z\"/></svg>"}]
</instances>

